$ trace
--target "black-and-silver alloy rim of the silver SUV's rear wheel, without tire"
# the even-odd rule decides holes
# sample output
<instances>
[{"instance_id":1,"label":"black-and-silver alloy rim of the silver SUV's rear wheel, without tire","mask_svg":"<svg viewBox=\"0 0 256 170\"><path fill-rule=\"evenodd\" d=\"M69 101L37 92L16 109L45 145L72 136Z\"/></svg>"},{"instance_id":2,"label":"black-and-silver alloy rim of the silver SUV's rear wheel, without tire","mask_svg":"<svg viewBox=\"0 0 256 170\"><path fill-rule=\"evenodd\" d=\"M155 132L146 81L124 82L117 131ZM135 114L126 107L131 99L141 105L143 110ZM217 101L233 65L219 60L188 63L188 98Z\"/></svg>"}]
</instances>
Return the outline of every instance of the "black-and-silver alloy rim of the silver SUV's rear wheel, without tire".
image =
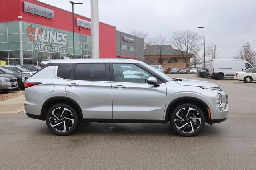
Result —
<instances>
[{"instance_id":1,"label":"black-and-silver alloy rim of the silver SUV's rear wheel, without tire","mask_svg":"<svg viewBox=\"0 0 256 170\"><path fill-rule=\"evenodd\" d=\"M57 132L66 132L73 127L74 116L69 109L58 107L51 112L49 122Z\"/></svg>"}]
</instances>

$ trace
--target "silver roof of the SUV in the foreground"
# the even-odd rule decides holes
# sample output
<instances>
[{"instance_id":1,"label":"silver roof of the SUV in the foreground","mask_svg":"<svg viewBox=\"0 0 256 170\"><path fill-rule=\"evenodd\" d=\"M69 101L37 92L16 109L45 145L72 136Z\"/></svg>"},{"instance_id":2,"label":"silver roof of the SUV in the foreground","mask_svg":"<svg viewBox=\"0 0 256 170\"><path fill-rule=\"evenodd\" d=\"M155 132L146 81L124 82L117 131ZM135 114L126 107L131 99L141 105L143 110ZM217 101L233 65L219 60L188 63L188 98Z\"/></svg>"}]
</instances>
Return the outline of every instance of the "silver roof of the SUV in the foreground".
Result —
<instances>
[{"instance_id":1,"label":"silver roof of the SUV in the foreground","mask_svg":"<svg viewBox=\"0 0 256 170\"><path fill-rule=\"evenodd\" d=\"M49 63L142 63L134 59L56 59Z\"/></svg>"}]
</instances>

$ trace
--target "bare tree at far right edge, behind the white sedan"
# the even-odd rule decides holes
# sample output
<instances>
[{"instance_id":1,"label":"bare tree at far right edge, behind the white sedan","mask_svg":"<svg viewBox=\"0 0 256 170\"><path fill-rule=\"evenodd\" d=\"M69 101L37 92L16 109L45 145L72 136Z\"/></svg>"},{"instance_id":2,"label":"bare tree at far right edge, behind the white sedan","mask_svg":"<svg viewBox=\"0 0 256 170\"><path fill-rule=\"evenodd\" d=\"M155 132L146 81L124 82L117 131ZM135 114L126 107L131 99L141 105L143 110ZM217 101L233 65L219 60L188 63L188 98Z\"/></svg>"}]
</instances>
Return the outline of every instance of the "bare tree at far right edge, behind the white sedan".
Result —
<instances>
[{"instance_id":1,"label":"bare tree at far right edge, behind the white sedan","mask_svg":"<svg viewBox=\"0 0 256 170\"><path fill-rule=\"evenodd\" d=\"M252 51L250 43L244 43L244 46L240 48L238 57L234 57L234 59L245 59L248 63L254 65L256 63L256 55Z\"/></svg>"}]
</instances>

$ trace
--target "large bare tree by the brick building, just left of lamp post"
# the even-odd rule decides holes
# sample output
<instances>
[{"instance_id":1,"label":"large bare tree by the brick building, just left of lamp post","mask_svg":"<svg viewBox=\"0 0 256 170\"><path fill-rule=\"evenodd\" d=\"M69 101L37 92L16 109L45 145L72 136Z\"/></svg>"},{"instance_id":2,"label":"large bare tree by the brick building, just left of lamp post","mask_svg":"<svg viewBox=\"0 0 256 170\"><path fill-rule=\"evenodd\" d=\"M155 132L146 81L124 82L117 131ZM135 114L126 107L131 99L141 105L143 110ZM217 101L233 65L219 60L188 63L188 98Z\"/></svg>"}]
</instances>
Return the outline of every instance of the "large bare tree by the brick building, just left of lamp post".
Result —
<instances>
[{"instance_id":1,"label":"large bare tree by the brick building, just left of lamp post","mask_svg":"<svg viewBox=\"0 0 256 170\"><path fill-rule=\"evenodd\" d=\"M198 41L200 40L198 34L191 30L174 31L172 35L172 47L178 49L178 53L182 55L185 60L186 67L188 67L189 55L193 55L198 51Z\"/></svg>"}]
</instances>

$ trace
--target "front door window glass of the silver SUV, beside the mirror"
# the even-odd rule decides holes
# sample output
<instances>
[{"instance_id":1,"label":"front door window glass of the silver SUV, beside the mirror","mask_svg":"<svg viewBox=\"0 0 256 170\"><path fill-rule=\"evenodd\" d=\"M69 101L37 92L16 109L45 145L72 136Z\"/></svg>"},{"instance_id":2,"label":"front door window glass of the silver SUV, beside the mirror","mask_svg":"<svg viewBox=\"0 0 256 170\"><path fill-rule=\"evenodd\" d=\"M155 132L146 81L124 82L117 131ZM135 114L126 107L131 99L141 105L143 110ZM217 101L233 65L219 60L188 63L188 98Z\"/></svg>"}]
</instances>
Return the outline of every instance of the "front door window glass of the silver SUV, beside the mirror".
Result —
<instances>
[{"instance_id":1,"label":"front door window glass of the silver SUV, beside the mirror","mask_svg":"<svg viewBox=\"0 0 256 170\"><path fill-rule=\"evenodd\" d=\"M140 67L129 63L113 64L113 69L118 82L147 83L148 77L152 76Z\"/></svg>"}]
</instances>

